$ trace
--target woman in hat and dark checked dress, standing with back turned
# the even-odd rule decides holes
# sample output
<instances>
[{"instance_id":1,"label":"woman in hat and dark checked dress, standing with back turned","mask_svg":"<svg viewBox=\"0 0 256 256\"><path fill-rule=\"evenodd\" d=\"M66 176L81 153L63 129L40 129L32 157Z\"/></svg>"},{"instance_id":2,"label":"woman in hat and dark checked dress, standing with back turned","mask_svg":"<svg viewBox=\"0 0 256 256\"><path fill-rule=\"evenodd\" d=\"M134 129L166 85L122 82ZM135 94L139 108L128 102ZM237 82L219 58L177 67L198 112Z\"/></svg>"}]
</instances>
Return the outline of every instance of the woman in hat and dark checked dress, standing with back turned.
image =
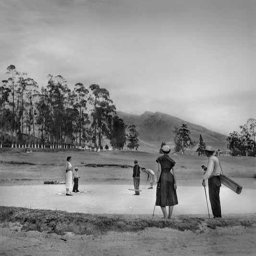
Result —
<instances>
[{"instance_id":1,"label":"woman in hat and dark checked dress, standing with back turned","mask_svg":"<svg viewBox=\"0 0 256 256\"><path fill-rule=\"evenodd\" d=\"M176 194L176 173L175 161L171 159L168 154L171 149L169 146L162 146L163 155L158 157L158 186L157 186L157 199L156 206L160 206L164 215L164 219L171 219L173 206L178 204ZM173 174L171 173L171 169ZM169 206L169 215L167 216L166 206Z\"/></svg>"}]
</instances>

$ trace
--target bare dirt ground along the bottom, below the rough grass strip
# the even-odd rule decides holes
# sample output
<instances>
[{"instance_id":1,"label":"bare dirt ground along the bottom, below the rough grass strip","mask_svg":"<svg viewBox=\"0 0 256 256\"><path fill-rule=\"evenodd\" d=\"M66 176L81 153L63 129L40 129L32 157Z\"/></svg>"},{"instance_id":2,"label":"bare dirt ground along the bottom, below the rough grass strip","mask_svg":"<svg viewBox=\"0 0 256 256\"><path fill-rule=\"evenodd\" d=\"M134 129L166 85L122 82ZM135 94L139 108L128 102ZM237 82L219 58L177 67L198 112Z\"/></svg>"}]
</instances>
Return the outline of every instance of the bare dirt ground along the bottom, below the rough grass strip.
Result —
<instances>
[{"instance_id":1,"label":"bare dirt ground along the bottom, below the rough grass strip","mask_svg":"<svg viewBox=\"0 0 256 256\"><path fill-rule=\"evenodd\" d=\"M256 226L235 226L204 231L146 228L140 232L108 232L103 235L65 235L21 231L19 223L0 229L0 255L255 255Z\"/></svg>"}]
</instances>

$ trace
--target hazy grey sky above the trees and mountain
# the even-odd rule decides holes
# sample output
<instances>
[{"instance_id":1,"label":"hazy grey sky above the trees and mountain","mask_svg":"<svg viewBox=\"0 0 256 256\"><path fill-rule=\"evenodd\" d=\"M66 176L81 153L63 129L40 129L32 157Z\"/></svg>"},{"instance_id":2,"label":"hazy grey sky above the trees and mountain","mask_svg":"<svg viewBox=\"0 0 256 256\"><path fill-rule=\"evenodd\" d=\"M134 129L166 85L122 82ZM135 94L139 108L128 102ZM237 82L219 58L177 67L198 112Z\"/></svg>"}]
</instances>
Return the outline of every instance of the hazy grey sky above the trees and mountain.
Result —
<instances>
[{"instance_id":1,"label":"hazy grey sky above the trees and mountain","mask_svg":"<svg viewBox=\"0 0 256 256\"><path fill-rule=\"evenodd\" d=\"M1 80L11 64L229 134L256 119L256 0L0 0Z\"/></svg>"}]
</instances>

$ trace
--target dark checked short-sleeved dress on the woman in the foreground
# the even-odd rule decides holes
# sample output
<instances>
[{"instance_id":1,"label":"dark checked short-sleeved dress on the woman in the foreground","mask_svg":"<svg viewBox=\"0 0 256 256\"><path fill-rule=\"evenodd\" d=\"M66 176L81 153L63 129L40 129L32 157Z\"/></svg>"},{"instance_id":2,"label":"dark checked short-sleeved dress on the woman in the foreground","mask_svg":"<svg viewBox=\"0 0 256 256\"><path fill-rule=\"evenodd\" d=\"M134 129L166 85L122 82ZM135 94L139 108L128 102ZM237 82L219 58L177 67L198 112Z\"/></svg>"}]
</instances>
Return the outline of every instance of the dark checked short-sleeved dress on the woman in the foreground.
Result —
<instances>
[{"instance_id":1,"label":"dark checked short-sleeved dress on the woman in the foreground","mask_svg":"<svg viewBox=\"0 0 256 256\"><path fill-rule=\"evenodd\" d=\"M161 165L161 175L157 187L156 206L174 206L178 204L176 190L174 189L174 178L171 168L175 161L168 155L164 154L156 159Z\"/></svg>"}]
</instances>

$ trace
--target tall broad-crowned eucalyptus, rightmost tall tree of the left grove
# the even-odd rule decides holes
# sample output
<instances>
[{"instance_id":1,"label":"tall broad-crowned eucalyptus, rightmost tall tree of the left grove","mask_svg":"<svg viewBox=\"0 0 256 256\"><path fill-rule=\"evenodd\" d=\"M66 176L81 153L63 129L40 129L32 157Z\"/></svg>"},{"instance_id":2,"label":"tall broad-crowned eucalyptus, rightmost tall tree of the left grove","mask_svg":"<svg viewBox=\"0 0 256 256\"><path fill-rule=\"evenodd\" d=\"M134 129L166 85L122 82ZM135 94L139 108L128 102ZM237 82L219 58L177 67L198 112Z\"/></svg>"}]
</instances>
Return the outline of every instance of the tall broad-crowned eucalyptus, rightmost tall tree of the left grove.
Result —
<instances>
[{"instance_id":1,"label":"tall broad-crowned eucalyptus, rightmost tall tree of the left grove","mask_svg":"<svg viewBox=\"0 0 256 256\"><path fill-rule=\"evenodd\" d=\"M96 137L98 132L98 146L101 146L102 135L107 134L107 123L110 115L115 114L116 107L110 99L110 93L105 88L98 85L90 85L92 96L89 98L93 105L92 126L94 127L94 145L96 146Z\"/></svg>"}]
</instances>

